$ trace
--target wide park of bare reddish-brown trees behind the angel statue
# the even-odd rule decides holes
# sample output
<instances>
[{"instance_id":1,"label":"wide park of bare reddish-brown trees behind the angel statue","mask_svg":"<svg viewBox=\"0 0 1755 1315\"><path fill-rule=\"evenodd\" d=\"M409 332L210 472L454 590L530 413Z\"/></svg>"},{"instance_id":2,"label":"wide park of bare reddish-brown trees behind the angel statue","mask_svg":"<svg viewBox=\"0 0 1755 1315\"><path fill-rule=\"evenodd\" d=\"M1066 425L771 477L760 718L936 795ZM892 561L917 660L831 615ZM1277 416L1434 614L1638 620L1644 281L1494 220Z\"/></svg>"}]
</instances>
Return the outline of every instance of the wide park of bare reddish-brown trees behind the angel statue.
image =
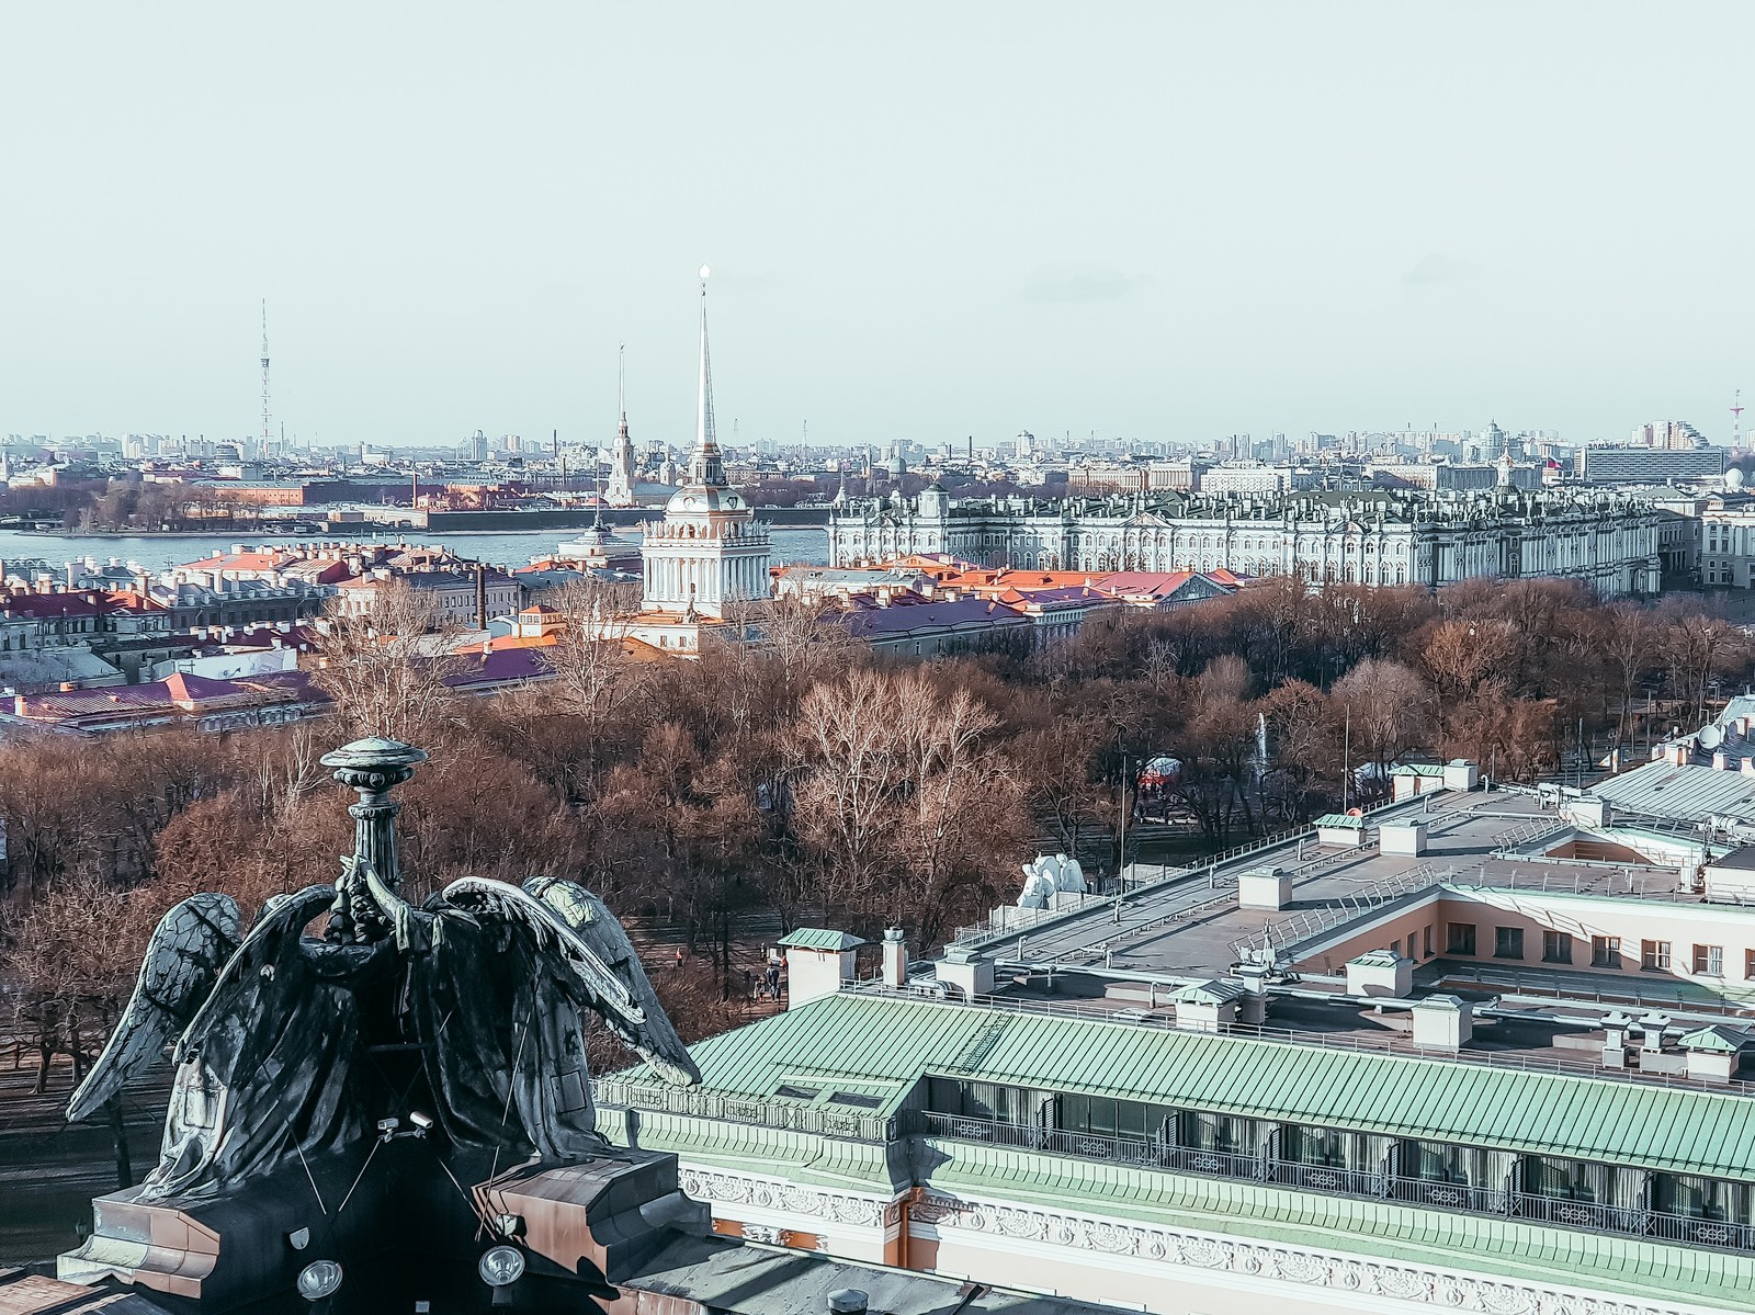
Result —
<instances>
[{"instance_id":1,"label":"wide park of bare reddish-brown trees behind the angel statue","mask_svg":"<svg viewBox=\"0 0 1755 1315\"><path fill-rule=\"evenodd\" d=\"M351 822L318 758L362 734L432 755L400 792L416 895L460 876L581 881L683 952L656 976L693 1039L741 1017L749 925L900 925L930 950L1014 899L1035 853L1113 874L1144 762L1179 762L1151 802L1174 862L1369 802L1397 762L1462 757L1508 781L1616 748L1639 762L1751 674L1748 636L1699 599L1602 602L1544 579L1264 579L932 662L879 658L795 599L732 618L739 637L698 660L642 660L605 622L621 606L570 593L555 679L493 697L448 697L448 658L384 643L418 622L386 611L330 629L328 718L0 746L12 1062L82 1066L183 895L223 890L251 916L332 880Z\"/></svg>"}]
</instances>

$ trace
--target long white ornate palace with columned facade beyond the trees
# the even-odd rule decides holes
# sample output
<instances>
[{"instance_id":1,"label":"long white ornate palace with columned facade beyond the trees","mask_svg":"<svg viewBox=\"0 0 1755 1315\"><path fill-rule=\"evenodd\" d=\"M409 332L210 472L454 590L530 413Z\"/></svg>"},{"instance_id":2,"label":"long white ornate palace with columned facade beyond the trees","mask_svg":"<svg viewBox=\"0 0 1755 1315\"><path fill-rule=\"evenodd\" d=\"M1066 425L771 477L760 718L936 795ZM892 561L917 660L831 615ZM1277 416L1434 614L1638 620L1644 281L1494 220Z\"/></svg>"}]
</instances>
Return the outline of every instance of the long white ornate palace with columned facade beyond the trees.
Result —
<instances>
[{"instance_id":1,"label":"long white ornate palace with columned facade beyond the trees","mask_svg":"<svg viewBox=\"0 0 1755 1315\"><path fill-rule=\"evenodd\" d=\"M948 553L1044 571L1300 572L1313 583L1580 579L1606 597L1660 588L1655 507L1601 490L1160 495L913 502L837 511L830 565Z\"/></svg>"}]
</instances>

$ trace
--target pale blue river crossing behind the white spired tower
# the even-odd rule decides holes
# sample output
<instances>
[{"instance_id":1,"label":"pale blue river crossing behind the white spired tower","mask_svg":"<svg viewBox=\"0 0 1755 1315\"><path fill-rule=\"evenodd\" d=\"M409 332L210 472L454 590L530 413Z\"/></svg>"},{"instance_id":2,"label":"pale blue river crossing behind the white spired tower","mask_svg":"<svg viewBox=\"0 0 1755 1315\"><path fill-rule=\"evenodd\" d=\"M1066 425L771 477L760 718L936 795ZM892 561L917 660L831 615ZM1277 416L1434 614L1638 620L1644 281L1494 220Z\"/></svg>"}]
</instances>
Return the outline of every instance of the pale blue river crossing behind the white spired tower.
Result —
<instances>
[{"instance_id":1,"label":"pale blue river crossing behind the white spired tower","mask_svg":"<svg viewBox=\"0 0 1755 1315\"><path fill-rule=\"evenodd\" d=\"M374 532L376 530L376 532ZM305 539L347 539L353 543L407 543L444 546L460 557L490 565L521 567L532 557L555 551L556 544L577 539L584 534L577 530L516 530L504 534L428 534L425 530L383 530L381 527L347 527L333 535L270 535L251 537L246 532L232 534L161 534L161 535L123 535L123 534L21 534L19 530L0 530L0 560L7 569L18 562L42 560L54 567L56 574L65 562L93 557L98 562L118 558L119 562L139 562L147 571L161 571L179 562L197 562L216 551L226 551L235 543L295 544ZM828 534L816 527L774 527L774 562L828 562ZM639 541L635 528L618 528L616 537Z\"/></svg>"}]
</instances>

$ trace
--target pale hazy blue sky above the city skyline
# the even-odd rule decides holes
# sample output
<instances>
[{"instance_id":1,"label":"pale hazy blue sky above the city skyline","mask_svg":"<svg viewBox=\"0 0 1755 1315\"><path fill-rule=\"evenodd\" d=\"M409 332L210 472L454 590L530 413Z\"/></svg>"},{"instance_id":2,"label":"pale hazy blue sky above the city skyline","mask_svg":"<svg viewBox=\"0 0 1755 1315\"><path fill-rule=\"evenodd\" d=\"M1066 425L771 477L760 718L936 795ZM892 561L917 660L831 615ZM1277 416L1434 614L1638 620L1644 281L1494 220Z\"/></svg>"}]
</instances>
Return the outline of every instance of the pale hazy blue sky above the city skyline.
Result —
<instances>
[{"instance_id":1,"label":"pale hazy blue sky above the city skyline","mask_svg":"<svg viewBox=\"0 0 1755 1315\"><path fill-rule=\"evenodd\" d=\"M0 434L1755 407L1755 4L0 4ZM1755 411L1744 416L1755 421Z\"/></svg>"}]
</instances>

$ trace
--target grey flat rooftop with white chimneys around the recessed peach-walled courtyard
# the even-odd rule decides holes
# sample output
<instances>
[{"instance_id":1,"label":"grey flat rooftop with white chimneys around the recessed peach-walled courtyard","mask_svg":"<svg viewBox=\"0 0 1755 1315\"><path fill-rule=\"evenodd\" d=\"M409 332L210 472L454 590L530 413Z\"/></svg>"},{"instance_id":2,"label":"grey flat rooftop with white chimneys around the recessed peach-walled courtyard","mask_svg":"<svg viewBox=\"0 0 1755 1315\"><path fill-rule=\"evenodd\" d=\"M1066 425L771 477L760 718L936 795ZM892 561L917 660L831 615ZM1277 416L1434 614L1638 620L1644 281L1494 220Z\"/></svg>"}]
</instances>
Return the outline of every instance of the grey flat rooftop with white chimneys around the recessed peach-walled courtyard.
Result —
<instances>
[{"instance_id":1,"label":"grey flat rooftop with white chimneys around the recessed peach-walled courtyard","mask_svg":"<svg viewBox=\"0 0 1755 1315\"><path fill-rule=\"evenodd\" d=\"M1311 830L1193 869L1134 871L1120 895L999 909L958 945L993 960L995 1002L1025 1011L1188 1025L1181 988L1236 987L1258 962L1271 967L1265 1020L1225 1031L1634 1081L1688 1078L1674 1050L1667 1067L1641 1071L1632 1052L1634 1067L1608 1066L1616 1011L1667 1015L1665 1048L1702 1027L1755 1025L1755 908L1688 888L1685 866L1716 860L1688 823L1583 825L1511 790L1437 792L1364 822L1364 844ZM1383 853L1379 829L1409 822L1425 827L1423 853ZM1288 883L1278 909L1239 904L1239 876L1262 869ZM1474 953L1451 943L1457 923ZM1367 995L1348 962L1381 948L1409 962L1400 985ZM1450 1055L1413 1043L1413 1006L1437 994L1471 1006L1472 1036ZM1725 1076L1737 1073L1732 1062Z\"/></svg>"}]
</instances>

